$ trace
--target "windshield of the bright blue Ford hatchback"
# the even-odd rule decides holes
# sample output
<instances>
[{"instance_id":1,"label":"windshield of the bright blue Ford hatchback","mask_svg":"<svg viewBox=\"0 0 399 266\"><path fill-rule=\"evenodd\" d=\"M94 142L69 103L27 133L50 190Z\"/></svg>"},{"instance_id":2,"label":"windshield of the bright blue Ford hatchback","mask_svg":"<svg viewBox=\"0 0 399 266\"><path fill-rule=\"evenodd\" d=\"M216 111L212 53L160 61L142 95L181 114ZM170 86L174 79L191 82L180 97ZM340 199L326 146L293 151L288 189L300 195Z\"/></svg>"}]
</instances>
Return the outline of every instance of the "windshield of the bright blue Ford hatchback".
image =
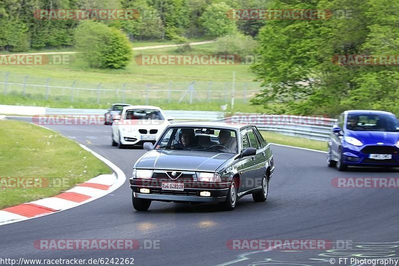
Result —
<instances>
[{"instance_id":1,"label":"windshield of the bright blue Ford hatchback","mask_svg":"<svg viewBox=\"0 0 399 266\"><path fill-rule=\"evenodd\" d=\"M348 115L346 128L355 131L399 131L399 122L392 115Z\"/></svg>"}]
</instances>

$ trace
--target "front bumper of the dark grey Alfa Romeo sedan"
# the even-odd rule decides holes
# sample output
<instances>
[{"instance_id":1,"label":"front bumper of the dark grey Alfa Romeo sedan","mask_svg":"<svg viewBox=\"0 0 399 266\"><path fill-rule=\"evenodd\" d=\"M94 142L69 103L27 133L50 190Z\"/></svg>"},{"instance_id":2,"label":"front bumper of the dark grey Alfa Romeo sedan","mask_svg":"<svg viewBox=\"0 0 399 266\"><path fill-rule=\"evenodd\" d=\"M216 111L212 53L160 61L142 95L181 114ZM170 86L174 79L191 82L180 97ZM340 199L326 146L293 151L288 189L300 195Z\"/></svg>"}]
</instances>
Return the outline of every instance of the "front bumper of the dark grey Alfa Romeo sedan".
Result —
<instances>
[{"instance_id":1,"label":"front bumper of the dark grey Alfa Romeo sedan","mask_svg":"<svg viewBox=\"0 0 399 266\"><path fill-rule=\"evenodd\" d=\"M184 191L162 190L162 182L176 182L166 180L130 179L130 188L133 196L141 199L150 199L164 202L224 202L227 199L230 183L209 183L190 181L184 183ZM150 193L140 193L141 188L150 190ZM209 197L200 196L201 191L210 192Z\"/></svg>"}]
</instances>

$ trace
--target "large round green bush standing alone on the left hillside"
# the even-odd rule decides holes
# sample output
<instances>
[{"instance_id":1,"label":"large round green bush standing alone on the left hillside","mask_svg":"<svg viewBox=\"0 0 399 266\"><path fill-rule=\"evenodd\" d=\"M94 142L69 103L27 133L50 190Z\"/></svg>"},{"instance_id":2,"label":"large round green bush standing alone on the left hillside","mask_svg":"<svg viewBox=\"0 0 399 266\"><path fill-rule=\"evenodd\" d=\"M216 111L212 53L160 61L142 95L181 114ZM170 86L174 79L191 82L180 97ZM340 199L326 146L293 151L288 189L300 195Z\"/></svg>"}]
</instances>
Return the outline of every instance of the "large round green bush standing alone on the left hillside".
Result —
<instances>
[{"instance_id":1,"label":"large round green bush standing alone on the left hillside","mask_svg":"<svg viewBox=\"0 0 399 266\"><path fill-rule=\"evenodd\" d=\"M91 67L125 67L133 55L126 36L103 23L81 22L76 28L75 40L80 55Z\"/></svg>"}]
</instances>

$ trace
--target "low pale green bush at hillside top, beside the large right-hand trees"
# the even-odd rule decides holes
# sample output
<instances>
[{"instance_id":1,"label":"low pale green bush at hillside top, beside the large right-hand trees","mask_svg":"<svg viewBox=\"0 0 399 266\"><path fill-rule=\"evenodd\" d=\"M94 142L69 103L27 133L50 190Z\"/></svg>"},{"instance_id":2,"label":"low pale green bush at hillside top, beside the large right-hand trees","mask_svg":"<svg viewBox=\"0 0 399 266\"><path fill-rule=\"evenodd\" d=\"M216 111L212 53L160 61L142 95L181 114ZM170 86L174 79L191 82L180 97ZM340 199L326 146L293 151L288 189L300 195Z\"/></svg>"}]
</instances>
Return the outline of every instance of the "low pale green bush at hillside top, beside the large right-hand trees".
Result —
<instances>
[{"instance_id":1,"label":"low pale green bush at hillside top, beside the large right-hand trees","mask_svg":"<svg viewBox=\"0 0 399 266\"><path fill-rule=\"evenodd\" d=\"M238 54L241 58L244 58L247 55L253 55L255 46L256 41L251 36L236 32L217 38L216 53Z\"/></svg>"}]
</instances>

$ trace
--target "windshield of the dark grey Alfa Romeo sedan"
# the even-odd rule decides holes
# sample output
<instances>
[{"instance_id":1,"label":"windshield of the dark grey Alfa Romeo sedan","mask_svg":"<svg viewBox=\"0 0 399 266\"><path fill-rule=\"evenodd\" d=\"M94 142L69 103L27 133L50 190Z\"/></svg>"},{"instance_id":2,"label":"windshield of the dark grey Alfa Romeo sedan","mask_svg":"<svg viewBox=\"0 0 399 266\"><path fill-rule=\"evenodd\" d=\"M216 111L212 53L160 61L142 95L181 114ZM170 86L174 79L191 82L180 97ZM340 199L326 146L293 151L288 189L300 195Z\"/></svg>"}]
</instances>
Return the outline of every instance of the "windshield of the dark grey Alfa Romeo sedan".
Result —
<instances>
[{"instance_id":1,"label":"windshield of the dark grey Alfa Romeo sedan","mask_svg":"<svg viewBox=\"0 0 399 266\"><path fill-rule=\"evenodd\" d=\"M234 130L228 129L171 127L155 149L237 153L237 137Z\"/></svg>"}]
</instances>

